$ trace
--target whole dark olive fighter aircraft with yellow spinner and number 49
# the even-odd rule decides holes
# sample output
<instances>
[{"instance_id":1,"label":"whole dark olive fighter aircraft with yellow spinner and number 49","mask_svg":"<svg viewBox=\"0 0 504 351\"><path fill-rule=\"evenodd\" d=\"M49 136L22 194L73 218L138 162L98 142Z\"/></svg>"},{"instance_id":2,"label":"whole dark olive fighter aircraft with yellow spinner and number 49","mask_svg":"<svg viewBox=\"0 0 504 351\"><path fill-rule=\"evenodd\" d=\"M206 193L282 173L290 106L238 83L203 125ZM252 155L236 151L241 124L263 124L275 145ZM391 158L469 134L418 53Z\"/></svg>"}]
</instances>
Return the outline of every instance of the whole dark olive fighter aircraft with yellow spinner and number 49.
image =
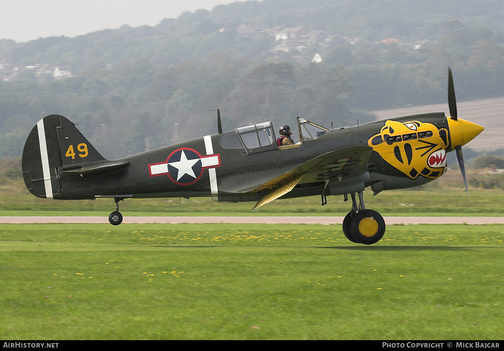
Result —
<instances>
[{"instance_id":1,"label":"whole dark olive fighter aircraft with yellow spinner and number 49","mask_svg":"<svg viewBox=\"0 0 504 351\"><path fill-rule=\"evenodd\" d=\"M64 116L40 120L26 140L22 169L28 190L47 199L112 198L109 221L119 224L127 198L211 197L215 201L342 195L352 207L343 232L354 243L374 244L385 233L380 213L364 206L363 191L425 184L447 170L456 151L467 189L461 147L483 128L459 119L449 69L450 116L422 113L351 127L325 128L297 118L300 142L278 146L271 122L107 160Z\"/></svg>"}]
</instances>

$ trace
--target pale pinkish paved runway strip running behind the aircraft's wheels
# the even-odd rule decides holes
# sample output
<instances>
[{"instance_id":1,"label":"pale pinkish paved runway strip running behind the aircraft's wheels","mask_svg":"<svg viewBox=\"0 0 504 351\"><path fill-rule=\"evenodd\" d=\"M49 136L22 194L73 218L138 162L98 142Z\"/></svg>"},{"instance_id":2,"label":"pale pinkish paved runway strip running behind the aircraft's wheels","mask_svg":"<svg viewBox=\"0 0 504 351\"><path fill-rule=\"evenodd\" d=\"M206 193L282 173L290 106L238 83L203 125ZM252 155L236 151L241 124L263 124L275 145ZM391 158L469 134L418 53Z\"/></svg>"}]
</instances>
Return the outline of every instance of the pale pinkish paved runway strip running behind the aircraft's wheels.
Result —
<instances>
[{"instance_id":1,"label":"pale pinkish paved runway strip running behind the aircraft's wheels","mask_svg":"<svg viewBox=\"0 0 504 351\"><path fill-rule=\"evenodd\" d=\"M122 223L341 224L344 217L124 217ZM384 217L386 224L504 224L504 217ZM0 223L108 223L108 217L0 217Z\"/></svg>"}]
</instances>

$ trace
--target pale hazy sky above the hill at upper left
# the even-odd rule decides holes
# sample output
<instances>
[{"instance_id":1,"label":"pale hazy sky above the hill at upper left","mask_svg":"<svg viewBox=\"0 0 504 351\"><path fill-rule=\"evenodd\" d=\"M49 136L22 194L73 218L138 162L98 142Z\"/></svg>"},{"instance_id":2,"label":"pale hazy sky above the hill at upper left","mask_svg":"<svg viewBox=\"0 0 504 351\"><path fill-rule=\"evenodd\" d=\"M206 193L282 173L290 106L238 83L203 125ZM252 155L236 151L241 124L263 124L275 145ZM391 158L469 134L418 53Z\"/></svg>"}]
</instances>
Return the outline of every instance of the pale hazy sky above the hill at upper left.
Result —
<instances>
[{"instance_id":1,"label":"pale hazy sky above the hill at upper left","mask_svg":"<svg viewBox=\"0 0 504 351\"><path fill-rule=\"evenodd\" d=\"M0 39L87 34L102 29L155 26L184 11L212 10L237 0L0 0ZM243 0L240 0L243 1Z\"/></svg>"}]
</instances>

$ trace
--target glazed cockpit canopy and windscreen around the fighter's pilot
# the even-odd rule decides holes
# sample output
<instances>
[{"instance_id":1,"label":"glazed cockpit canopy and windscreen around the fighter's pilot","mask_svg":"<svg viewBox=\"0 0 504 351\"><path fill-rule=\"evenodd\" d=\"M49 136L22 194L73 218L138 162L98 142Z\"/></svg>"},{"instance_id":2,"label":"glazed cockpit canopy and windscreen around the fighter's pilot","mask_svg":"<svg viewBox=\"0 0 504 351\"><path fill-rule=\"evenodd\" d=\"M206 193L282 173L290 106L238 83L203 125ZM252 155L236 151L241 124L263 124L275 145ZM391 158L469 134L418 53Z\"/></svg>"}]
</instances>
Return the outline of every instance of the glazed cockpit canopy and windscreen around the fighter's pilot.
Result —
<instances>
[{"instance_id":1,"label":"glazed cockpit canopy and windscreen around the fighter's pilot","mask_svg":"<svg viewBox=\"0 0 504 351\"><path fill-rule=\"evenodd\" d=\"M320 138L329 131L327 128L299 117L297 118L297 127L299 142L294 145L277 145L271 121L236 128L234 132L224 134L219 143L224 149L244 149L250 155L274 149L299 147L304 141Z\"/></svg>"}]
</instances>

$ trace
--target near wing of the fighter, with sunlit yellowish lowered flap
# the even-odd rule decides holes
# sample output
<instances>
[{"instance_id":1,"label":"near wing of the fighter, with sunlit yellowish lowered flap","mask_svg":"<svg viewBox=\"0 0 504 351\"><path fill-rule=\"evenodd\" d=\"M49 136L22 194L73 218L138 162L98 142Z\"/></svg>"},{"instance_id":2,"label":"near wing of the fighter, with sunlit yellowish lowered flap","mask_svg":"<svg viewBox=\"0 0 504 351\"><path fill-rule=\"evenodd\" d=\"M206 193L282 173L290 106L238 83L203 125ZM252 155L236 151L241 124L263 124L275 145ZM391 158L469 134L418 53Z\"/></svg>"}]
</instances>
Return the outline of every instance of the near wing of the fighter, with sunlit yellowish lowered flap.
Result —
<instances>
[{"instance_id":1,"label":"near wing of the fighter, with sunlit yellowish lowered flap","mask_svg":"<svg viewBox=\"0 0 504 351\"><path fill-rule=\"evenodd\" d=\"M347 183L359 179L367 170L372 148L352 146L330 151L281 174L251 192L267 192L253 210L290 192L298 184L325 182Z\"/></svg>"}]
</instances>

